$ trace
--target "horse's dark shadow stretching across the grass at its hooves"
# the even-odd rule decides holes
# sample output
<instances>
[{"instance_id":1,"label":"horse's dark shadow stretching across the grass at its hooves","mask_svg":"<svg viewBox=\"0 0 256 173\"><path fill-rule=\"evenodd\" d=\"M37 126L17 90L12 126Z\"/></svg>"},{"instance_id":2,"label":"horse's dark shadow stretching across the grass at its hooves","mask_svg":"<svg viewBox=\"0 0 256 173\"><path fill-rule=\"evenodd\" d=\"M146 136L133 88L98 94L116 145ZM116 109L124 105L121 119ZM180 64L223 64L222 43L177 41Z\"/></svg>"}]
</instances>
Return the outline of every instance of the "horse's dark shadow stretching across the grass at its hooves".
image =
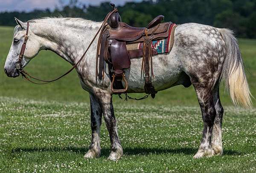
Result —
<instances>
[{"instance_id":1,"label":"horse's dark shadow stretching across the grass at its hooves","mask_svg":"<svg viewBox=\"0 0 256 173\"><path fill-rule=\"evenodd\" d=\"M67 152L74 152L79 154L84 154L88 151L89 148L83 148L83 147L67 147L67 148L61 148L61 147L33 147L33 148L26 148L26 147L19 147L12 149L12 153L20 153L20 152L59 152L59 151L67 151ZM131 155L141 155L141 156L147 156L151 154L184 154L184 155L194 155L197 152L197 149L191 148L191 147L181 147L181 148L175 148L175 149L161 149L161 148L143 148L143 147L137 147L137 148L131 148L126 147L123 148L123 153L125 156L131 156ZM101 150L101 156L108 157L110 154L110 149L102 148ZM224 155L233 156L233 155L241 155L242 152L236 151L236 150L224 150Z\"/></svg>"}]
</instances>

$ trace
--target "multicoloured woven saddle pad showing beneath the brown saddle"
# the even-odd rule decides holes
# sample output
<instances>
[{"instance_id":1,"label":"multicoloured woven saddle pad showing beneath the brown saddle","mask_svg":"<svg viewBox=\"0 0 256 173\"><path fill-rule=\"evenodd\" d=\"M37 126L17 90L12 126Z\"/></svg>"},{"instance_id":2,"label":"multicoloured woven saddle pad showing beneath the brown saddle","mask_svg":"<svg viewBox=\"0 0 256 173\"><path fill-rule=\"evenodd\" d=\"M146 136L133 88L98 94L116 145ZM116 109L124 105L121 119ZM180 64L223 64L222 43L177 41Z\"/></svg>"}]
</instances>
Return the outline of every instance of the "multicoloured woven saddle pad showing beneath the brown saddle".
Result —
<instances>
[{"instance_id":1,"label":"multicoloured woven saddle pad showing beneath the brown saddle","mask_svg":"<svg viewBox=\"0 0 256 173\"><path fill-rule=\"evenodd\" d=\"M157 54L169 53L172 50L174 43L174 33L176 24L172 24L169 28L168 37L159 40L152 40L151 47L157 51ZM143 49L143 42L126 45L127 51Z\"/></svg>"}]
</instances>

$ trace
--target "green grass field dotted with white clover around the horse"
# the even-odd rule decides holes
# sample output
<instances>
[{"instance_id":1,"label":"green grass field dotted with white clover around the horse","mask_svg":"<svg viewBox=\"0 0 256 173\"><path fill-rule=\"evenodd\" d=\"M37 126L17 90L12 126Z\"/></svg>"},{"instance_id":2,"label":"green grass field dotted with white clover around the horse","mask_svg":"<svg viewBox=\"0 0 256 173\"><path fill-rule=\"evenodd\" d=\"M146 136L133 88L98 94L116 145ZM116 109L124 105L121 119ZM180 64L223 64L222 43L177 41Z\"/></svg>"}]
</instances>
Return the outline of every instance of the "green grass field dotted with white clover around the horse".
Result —
<instances>
[{"instance_id":1,"label":"green grass field dotted with white clover around the horse","mask_svg":"<svg viewBox=\"0 0 256 173\"><path fill-rule=\"evenodd\" d=\"M12 43L10 27L0 27L0 67ZM256 40L239 40L247 78L256 95ZM27 71L54 78L70 64L42 51ZM141 96L141 94L134 94ZM124 102L114 96L124 156L107 160L108 131L102 124L102 155L83 159L90 144L90 104L75 72L49 85L8 78L0 70L0 172L256 172L256 107L234 108L221 91L223 156L192 159L203 122L193 87L177 86L155 99ZM145 104L150 109L146 109Z\"/></svg>"}]
</instances>

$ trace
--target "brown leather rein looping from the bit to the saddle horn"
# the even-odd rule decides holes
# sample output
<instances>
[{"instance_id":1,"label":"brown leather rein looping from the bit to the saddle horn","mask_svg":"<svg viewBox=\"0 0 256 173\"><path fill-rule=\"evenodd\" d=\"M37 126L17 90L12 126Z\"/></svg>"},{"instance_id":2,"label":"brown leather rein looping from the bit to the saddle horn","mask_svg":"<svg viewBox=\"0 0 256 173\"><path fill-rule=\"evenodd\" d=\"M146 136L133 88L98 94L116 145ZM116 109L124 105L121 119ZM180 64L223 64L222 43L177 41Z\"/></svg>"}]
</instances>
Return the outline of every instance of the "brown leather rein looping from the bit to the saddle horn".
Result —
<instances>
[{"instance_id":1,"label":"brown leather rein looping from the bit to the saddle horn","mask_svg":"<svg viewBox=\"0 0 256 173\"><path fill-rule=\"evenodd\" d=\"M42 79L38 79L36 77L32 77L30 74L28 74L26 71L24 71L23 69L20 71L20 74L22 75L22 77L25 77L26 80L28 80L29 82L32 82L34 84L47 84L47 83L50 83L50 82L53 82L53 81L56 81L58 79L61 79L62 77L66 76L67 74L69 74L71 71L73 71L74 68L76 68L79 63L81 62L81 60L83 60L85 54L87 53L88 49L90 48L90 46L93 44L93 41L96 39L97 35L99 34L99 31L101 31L101 34L102 34L102 31L104 29L104 25L106 24L106 22L108 21L108 18L110 17L111 14L113 14L114 12L116 12L117 9L113 9L113 11L109 12L108 15L105 17L105 20L103 21L102 25L100 26L99 30L97 31L97 33L95 34L95 36L93 37L93 40L90 42L90 44L88 45L86 51L84 52L84 54L81 56L81 58L79 59L78 62L76 62L75 65L73 65L72 68L70 68L69 71L67 71L65 74L61 75L60 77L56 78L56 79L53 79L53 80L42 80ZM96 57L96 69L98 69L98 48L97 48L97 57ZM98 70L97 70L98 71ZM44 83L37 83L37 82L33 82L29 79L29 76L30 78L32 79L35 79L35 80L38 80L38 81L41 81L41 82L44 82Z\"/></svg>"}]
</instances>

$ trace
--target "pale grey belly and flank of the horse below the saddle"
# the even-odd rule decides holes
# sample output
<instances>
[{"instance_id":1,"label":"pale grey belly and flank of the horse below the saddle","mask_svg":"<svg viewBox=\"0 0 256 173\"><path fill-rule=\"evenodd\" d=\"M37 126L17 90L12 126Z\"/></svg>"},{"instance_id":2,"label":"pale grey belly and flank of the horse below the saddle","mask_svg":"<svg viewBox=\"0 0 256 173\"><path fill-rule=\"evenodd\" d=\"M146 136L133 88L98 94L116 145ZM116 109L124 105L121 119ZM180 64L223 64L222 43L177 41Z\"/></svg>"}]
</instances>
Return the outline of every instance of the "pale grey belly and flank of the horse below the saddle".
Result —
<instances>
[{"instance_id":1,"label":"pale grey belly and flank of the horse below the saddle","mask_svg":"<svg viewBox=\"0 0 256 173\"><path fill-rule=\"evenodd\" d=\"M141 73L142 58L131 60L131 69L125 70L125 79L128 82L128 93L144 93L144 74ZM153 73L151 77L155 91L164 90L173 86L181 73L179 62L172 54L162 54L153 57ZM123 83L124 85L124 83Z\"/></svg>"}]
</instances>

